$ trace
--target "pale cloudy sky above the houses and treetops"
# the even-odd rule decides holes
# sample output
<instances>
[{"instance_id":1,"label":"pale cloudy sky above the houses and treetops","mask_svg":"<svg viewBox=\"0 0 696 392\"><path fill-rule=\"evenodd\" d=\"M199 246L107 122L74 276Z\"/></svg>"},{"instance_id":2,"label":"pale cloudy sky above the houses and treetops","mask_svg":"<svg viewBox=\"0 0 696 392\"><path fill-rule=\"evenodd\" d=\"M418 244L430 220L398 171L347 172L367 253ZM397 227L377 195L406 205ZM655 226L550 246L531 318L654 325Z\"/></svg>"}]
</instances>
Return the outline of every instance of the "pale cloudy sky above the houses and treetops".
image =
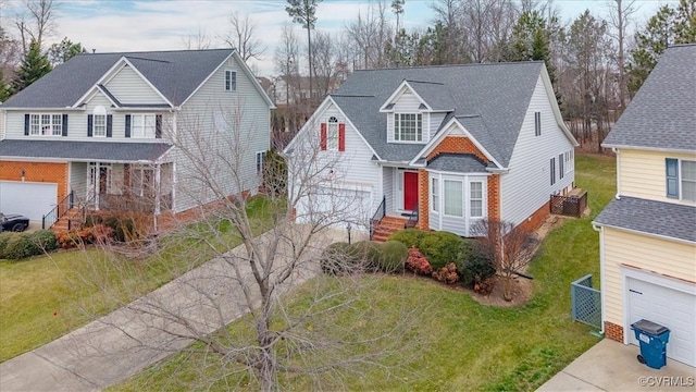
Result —
<instances>
[{"instance_id":1,"label":"pale cloudy sky above the houses and treetops","mask_svg":"<svg viewBox=\"0 0 696 392\"><path fill-rule=\"evenodd\" d=\"M387 4L390 0L384 0ZM185 49L187 37L200 33L211 39L211 47L223 47L222 37L228 29L229 14L249 13L258 34L266 46L260 61L251 61L260 75L273 75L274 45L281 27L290 22L285 12L285 0L54 0L58 4L57 28L49 41L67 37L80 42L87 50L98 52ZM674 1L637 0L643 22L663 3ZM22 8L22 0L0 0L0 23L11 33L13 15ZM360 10L368 9L369 0L324 0L320 3L316 27L339 32ZM406 0L405 27L424 27L433 19L432 0ZM606 16L607 0L556 0L554 2L564 22L575 19L585 9ZM390 19L394 14L388 13ZM306 33L296 25L300 37ZM300 40L300 44L304 39Z\"/></svg>"}]
</instances>

